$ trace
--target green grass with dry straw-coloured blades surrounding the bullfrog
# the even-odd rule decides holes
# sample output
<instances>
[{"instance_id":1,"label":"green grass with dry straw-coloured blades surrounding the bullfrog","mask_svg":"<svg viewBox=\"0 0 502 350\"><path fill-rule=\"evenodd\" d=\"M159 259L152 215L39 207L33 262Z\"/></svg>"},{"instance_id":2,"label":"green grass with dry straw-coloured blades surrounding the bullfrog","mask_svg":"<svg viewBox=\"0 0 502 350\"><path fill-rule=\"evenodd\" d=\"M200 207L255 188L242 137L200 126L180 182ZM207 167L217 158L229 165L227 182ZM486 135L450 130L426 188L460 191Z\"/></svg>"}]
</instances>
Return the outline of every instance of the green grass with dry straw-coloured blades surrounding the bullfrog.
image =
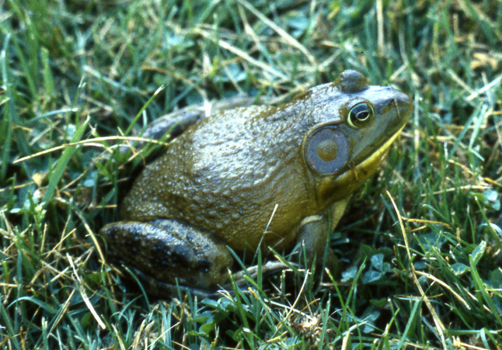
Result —
<instances>
[{"instance_id":1,"label":"green grass with dry straw-coloured blades surrounding the bullfrog","mask_svg":"<svg viewBox=\"0 0 502 350\"><path fill-rule=\"evenodd\" d=\"M502 3L0 5L0 347L500 348ZM162 147L108 136L347 68L415 107L332 235L338 275L154 300L103 262L96 233Z\"/></svg>"}]
</instances>

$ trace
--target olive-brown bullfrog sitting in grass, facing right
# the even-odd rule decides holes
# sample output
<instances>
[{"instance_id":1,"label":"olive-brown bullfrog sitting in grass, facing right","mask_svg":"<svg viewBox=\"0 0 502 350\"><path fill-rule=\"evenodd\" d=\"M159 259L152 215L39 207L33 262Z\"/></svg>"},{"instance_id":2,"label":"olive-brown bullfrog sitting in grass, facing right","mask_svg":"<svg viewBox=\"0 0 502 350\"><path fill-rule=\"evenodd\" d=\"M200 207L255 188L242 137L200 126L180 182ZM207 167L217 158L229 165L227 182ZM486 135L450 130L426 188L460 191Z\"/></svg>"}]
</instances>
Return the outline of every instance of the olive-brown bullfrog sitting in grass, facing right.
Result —
<instances>
[{"instance_id":1,"label":"olive-brown bullfrog sitting in grass, facing right","mask_svg":"<svg viewBox=\"0 0 502 350\"><path fill-rule=\"evenodd\" d=\"M164 286L224 285L227 247L243 254L301 244L308 261L320 261L350 195L411 111L403 92L345 70L278 106L192 118L136 179L121 221L100 235L115 259ZM328 265L332 258L328 250Z\"/></svg>"}]
</instances>

